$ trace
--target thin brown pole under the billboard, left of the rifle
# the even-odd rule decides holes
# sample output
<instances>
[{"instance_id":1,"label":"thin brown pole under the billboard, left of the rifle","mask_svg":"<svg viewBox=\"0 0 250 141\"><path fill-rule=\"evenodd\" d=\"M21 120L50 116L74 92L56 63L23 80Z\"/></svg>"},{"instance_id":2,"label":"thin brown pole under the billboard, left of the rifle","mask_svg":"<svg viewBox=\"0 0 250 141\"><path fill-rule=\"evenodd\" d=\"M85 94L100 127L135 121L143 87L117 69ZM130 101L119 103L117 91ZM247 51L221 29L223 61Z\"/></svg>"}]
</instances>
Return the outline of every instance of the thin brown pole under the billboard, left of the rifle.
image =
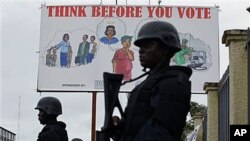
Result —
<instances>
[{"instance_id":1,"label":"thin brown pole under the billboard, left of the rifle","mask_svg":"<svg viewBox=\"0 0 250 141\"><path fill-rule=\"evenodd\" d=\"M96 92L92 92L92 128L91 128L91 141L95 141L96 136Z\"/></svg>"}]
</instances>

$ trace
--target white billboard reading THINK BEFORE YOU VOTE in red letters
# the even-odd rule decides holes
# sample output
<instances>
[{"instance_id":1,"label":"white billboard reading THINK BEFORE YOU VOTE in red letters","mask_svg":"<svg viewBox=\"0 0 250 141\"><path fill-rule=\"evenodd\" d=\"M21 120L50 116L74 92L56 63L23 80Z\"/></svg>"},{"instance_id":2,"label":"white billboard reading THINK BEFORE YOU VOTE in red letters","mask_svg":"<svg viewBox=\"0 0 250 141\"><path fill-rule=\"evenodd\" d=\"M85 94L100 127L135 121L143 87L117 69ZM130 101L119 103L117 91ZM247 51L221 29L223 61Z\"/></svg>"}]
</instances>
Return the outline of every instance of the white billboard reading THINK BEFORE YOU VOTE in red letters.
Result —
<instances>
[{"instance_id":1,"label":"white billboard reading THINK BEFORE YOU VOTE in red letters","mask_svg":"<svg viewBox=\"0 0 250 141\"><path fill-rule=\"evenodd\" d=\"M139 49L133 42L143 24L156 20L176 26L182 50L171 65L193 69L193 93L204 93L204 82L219 81L215 7L44 5L37 90L103 91L103 72L122 73L124 81L141 75ZM129 50L124 51L125 46ZM143 79L121 91L131 91Z\"/></svg>"}]
</instances>

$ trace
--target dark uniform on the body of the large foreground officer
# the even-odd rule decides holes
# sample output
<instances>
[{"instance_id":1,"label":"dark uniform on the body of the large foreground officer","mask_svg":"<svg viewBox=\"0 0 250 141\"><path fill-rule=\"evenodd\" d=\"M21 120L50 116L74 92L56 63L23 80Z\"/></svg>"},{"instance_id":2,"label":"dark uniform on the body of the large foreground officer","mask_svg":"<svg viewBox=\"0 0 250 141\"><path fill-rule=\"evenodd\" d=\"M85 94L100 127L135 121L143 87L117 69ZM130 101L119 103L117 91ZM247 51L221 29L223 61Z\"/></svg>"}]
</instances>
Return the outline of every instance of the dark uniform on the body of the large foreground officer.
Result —
<instances>
[{"instance_id":1,"label":"dark uniform on the body of the large foreground officer","mask_svg":"<svg viewBox=\"0 0 250 141\"><path fill-rule=\"evenodd\" d=\"M131 92L122 140L180 140L190 109L192 71L186 67L159 71L152 72Z\"/></svg>"}]
</instances>

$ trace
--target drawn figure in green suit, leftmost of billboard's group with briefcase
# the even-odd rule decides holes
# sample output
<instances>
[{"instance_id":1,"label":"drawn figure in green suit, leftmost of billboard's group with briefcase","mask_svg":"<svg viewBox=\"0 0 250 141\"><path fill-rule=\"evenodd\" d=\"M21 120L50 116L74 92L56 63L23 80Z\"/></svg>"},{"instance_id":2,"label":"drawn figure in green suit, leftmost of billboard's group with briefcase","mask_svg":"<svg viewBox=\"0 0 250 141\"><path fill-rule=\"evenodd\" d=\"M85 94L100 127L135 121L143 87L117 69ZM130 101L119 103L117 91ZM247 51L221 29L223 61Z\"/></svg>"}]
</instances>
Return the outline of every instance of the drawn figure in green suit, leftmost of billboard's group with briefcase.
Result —
<instances>
[{"instance_id":1,"label":"drawn figure in green suit, leftmost of billboard's group with briefcase","mask_svg":"<svg viewBox=\"0 0 250 141\"><path fill-rule=\"evenodd\" d=\"M79 44L77 51L77 56L80 57L80 65L85 65L87 63L87 55L89 53L90 43L87 41L88 35L84 34L82 37L82 42Z\"/></svg>"}]
</instances>

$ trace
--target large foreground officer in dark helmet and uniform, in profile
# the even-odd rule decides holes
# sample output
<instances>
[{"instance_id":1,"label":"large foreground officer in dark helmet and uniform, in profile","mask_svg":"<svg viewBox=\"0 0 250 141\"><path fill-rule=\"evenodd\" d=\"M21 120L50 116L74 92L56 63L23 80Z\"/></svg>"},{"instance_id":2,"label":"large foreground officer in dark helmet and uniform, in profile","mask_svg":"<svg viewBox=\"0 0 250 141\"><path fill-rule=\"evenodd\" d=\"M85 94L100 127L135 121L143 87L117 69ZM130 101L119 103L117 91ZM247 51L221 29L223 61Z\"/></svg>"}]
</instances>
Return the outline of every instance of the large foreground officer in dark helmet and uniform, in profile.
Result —
<instances>
[{"instance_id":1,"label":"large foreground officer in dark helmet and uniform, in profile","mask_svg":"<svg viewBox=\"0 0 250 141\"><path fill-rule=\"evenodd\" d=\"M144 24L134 42L147 78L131 92L121 119L120 141L179 141L190 109L192 70L170 66L181 50L176 28L164 21Z\"/></svg>"}]
</instances>

